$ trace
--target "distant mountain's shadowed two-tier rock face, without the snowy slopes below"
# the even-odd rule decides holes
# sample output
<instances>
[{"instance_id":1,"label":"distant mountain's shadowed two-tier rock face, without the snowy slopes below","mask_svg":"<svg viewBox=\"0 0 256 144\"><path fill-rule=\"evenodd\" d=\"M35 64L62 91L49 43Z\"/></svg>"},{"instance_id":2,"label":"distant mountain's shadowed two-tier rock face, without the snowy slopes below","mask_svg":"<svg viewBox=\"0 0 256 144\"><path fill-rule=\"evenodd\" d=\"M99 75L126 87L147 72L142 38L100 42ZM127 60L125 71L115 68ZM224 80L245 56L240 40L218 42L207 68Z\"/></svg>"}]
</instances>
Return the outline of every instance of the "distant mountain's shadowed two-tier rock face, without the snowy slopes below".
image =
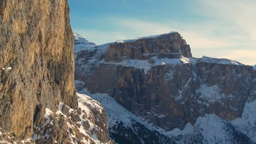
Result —
<instances>
[{"instance_id":1,"label":"distant mountain's shadowed two-tier rock face, without the snowy slopes below","mask_svg":"<svg viewBox=\"0 0 256 144\"><path fill-rule=\"evenodd\" d=\"M101 57L96 51L78 52L79 89L107 93L165 130L183 129L206 113L231 121L242 116L247 100L255 99L253 67L229 59L193 58L177 32L117 41Z\"/></svg>"}]
</instances>

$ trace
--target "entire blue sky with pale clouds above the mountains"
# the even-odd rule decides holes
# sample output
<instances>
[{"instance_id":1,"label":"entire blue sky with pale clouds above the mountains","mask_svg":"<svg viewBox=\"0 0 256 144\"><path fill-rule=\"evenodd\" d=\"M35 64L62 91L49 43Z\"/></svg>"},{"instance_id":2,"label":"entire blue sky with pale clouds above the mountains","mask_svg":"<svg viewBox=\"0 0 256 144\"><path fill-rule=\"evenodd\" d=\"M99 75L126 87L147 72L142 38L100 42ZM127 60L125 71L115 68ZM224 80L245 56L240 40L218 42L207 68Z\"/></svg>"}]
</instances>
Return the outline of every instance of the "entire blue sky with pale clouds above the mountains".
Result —
<instances>
[{"instance_id":1,"label":"entire blue sky with pale clouds above the mountains","mask_svg":"<svg viewBox=\"0 0 256 144\"><path fill-rule=\"evenodd\" d=\"M68 0L73 31L96 44L177 31L194 57L256 64L255 0Z\"/></svg>"}]
</instances>

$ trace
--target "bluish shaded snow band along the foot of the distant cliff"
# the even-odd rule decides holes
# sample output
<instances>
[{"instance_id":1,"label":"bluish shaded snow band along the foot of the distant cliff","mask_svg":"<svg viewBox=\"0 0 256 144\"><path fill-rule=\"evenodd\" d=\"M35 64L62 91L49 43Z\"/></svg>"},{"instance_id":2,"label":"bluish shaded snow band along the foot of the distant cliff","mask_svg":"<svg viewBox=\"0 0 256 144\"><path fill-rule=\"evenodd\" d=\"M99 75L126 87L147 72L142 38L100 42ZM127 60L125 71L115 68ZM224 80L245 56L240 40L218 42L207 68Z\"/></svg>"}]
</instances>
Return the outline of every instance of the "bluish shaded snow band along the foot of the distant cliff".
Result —
<instances>
[{"instance_id":1,"label":"bluish shaded snow band along the foot of the distant cliff","mask_svg":"<svg viewBox=\"0 0 256 144\"><path fill-rule=\"evenodd\" d=\"M171 139L182 136L182 139L175 139L177 143L184 143L184 141L189 140L188 137L198 135L202 135L202 143L232 143L233 139L235 139L232 127L235 127L236 130L241 131L250 137L253 142L256 142L256 100L247 103L242 118L236 118L234 121L227 122L214 114L206 114L203 117L197 118L194 126L187 123L183 130L176 128L172 131L165 131L153 124L147 123L146 119L137 117L126 110L113 98L109 97L108 94L91 94L87 89L83 89L79 93L86 94L103 105L107 112L109 128L114 127L117 122L123 122L124 127L136 131L136 128L133 128L132 124L137 122L144 125L150 131L158 131L158 133Z\"/></svg>"}]
</instances>

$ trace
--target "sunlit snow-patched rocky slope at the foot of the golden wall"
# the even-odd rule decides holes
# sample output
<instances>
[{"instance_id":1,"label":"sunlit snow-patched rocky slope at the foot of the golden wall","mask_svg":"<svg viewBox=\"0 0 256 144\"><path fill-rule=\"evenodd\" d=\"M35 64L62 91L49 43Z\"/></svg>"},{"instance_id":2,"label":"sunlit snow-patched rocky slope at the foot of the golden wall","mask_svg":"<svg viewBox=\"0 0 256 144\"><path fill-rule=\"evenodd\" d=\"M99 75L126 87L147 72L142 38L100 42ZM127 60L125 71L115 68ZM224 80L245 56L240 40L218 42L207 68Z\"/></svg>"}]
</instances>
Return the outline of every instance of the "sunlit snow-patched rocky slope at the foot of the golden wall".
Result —
<instances>
[{"instance_id":1,"label":"sunlit snow-patched rocky slope at the foot of the golden wall","mask_svg":"<svg viewBox=\"0 0 256 144\"><path fill-rule=\"evenodd\" d=\"M77 95L80 111L71 109L63 103L59 104L59 110L55 112L45 108L40 119L42 125L33 125L34 134L30 139L15 141L12 133L0 128L0 143L112 143L108 140L107 118L102 105L87 95ZM52 141L52 136L55 135L58 127L61 127L68 142ZM107 140L102 139L104 136ZM61 137L59 138L62 140Z\"/></svg>"}]
</instances>

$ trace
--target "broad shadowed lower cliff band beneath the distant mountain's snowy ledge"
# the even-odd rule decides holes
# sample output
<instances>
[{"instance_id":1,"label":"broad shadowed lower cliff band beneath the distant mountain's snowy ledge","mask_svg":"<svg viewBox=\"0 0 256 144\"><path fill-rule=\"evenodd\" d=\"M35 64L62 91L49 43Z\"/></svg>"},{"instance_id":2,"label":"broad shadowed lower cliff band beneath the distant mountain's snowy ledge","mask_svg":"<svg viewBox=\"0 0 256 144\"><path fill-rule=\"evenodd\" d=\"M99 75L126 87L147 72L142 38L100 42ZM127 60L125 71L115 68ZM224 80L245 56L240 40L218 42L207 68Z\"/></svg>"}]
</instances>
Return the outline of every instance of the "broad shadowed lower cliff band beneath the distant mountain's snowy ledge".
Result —
<instances>
[{"instance_id":1,"label":"broad shadowed lower cliff band beneath the distant mountain's snowy ledge","mask_svg":"<svg viewBox=\"0 0 256 144\"><path fill-rule=\"evenodd\" d=\"M101 64L88 89L108 93L137 116L172 130L194 124L206 113L227 121L241 117L252 77L252 67L238 65L158 65L145 74L140 69Z\"/></svg>"}]
</instances>

